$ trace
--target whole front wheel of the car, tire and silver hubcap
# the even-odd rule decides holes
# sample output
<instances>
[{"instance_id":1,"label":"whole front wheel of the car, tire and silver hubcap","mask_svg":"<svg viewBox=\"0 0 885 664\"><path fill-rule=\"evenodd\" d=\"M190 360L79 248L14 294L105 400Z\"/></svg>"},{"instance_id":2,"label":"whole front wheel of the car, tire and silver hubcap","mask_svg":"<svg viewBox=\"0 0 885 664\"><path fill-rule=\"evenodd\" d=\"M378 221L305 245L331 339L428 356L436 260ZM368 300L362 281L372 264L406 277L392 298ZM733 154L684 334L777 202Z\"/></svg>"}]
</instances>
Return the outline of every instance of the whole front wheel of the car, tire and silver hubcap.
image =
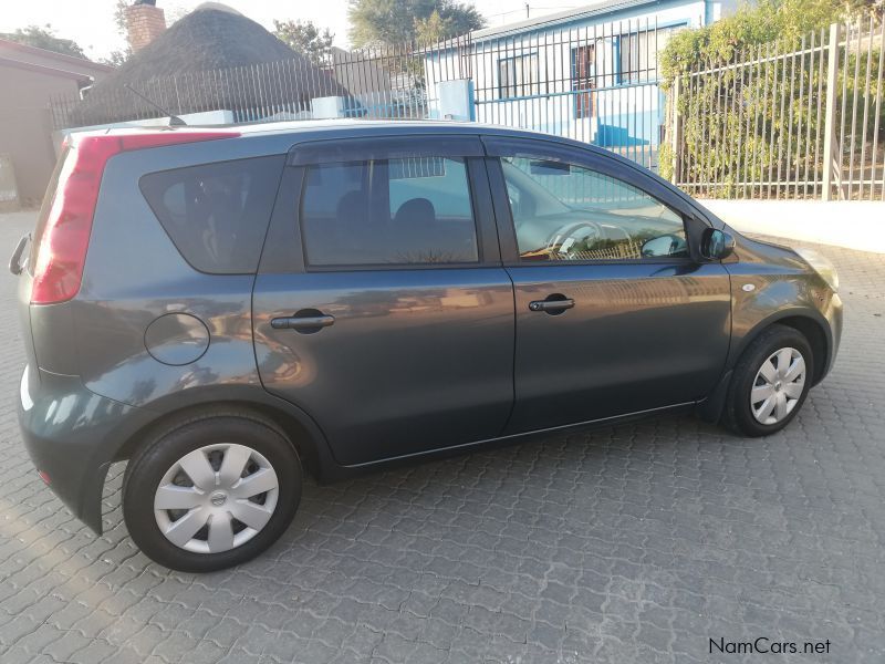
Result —
<instances>
[{"instance_id":1,"label":"whole front wheel of the car, tire and silver hubcap","mask_svg":"<svg viewBox=\"0 0 885 664\"><path fill-rule=\"evenodd\" d=\"M738 434L757 437L785 427L805 402L813 361L801 332L785 325L762 332L735 366L725 423Z\"/></svg>"}]
</instances>

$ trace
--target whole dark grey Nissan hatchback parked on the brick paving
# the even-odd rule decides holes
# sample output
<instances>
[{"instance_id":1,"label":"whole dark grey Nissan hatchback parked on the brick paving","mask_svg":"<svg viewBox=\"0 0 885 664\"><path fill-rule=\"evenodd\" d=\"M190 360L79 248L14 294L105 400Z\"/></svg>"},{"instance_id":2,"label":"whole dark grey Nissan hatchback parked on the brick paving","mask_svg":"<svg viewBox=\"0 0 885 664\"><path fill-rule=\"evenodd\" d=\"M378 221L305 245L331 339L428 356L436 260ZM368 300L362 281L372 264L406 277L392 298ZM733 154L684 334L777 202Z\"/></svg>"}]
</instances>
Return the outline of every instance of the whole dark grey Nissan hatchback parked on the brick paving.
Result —
<instances>
[{"instance_id":1,"label":"whole dark grey Nissan hatchback parked on the brick paving","mask_svg":"<svg viewBox=\"0 0 885 664\"><path fill-rule=\"evenodd\" d=\"M476 124L80 134L10 269L41 478L101 533L128 459L133 540L187 571L269 547L305 471L671 409L777 432L842 326L822 257Z\"/></svg>"}]
</instances>

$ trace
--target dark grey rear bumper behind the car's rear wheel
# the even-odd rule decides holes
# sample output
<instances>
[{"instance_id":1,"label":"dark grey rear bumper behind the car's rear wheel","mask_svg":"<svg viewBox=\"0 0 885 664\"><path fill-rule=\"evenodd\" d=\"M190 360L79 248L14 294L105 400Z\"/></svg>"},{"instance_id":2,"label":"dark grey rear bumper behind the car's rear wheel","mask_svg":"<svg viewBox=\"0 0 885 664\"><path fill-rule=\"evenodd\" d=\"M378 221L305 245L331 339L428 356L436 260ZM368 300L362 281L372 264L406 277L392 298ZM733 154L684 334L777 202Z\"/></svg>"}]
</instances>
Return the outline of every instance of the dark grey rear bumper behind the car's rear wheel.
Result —
<instances>
[{"instance_id":1,"label":"dark grey rear bumper behind the car's rear wheel","mask_svg":"<svg viewBox=\"0 0 885 664\"><path fill-rule=\"evenodd\" d=\"M107 469L123 443L150 421L148 412L88 391L79 376L33 366L22 374L18 411L37 469L73 515L101 535Z\"/></svg>"}]
</instances>

